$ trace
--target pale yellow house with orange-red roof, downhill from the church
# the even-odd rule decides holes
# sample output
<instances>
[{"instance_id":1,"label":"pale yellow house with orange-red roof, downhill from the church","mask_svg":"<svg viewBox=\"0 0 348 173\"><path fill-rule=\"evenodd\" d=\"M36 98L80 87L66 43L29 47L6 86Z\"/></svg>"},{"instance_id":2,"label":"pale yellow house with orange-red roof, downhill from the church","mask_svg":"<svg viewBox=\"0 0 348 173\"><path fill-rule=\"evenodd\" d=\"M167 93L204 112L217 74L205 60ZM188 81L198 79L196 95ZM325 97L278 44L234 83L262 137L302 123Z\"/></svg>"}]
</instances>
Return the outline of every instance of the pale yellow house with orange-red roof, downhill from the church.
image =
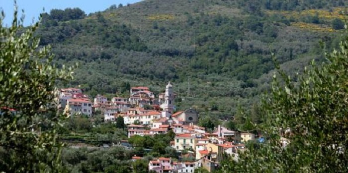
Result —
<instances>
[{"instance_id":1,"label":"pale yellow house with orange-red roof, downhill from the church","mask_svg":"<svg viewBox=\"0 0 348 173\"><path fill-rule=\"evenodd\" d=\"M176 151L182 151L185 149L195 150L197 139L194 134L184 133L178 134L174 137Z\"/></svg>"}]
</instances>

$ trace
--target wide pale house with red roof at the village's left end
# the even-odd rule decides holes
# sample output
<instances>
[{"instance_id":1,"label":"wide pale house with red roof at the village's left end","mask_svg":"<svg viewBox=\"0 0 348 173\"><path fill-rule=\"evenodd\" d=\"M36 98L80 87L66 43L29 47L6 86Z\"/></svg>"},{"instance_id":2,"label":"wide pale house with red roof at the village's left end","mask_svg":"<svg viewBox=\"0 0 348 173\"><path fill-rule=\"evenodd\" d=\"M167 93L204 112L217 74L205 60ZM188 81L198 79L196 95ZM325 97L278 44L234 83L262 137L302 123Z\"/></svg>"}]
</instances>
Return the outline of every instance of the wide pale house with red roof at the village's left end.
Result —
<instances>
[{"instance_id":1,"label":"wide pale house with red roof at the village's left end","mask_svg":"<svg viewBox=\"0 0 348 173\"><path fill-rule=\"evenodd\" d=\"M68 99L65 108L68 115L82 114L92 116L92 103L88 99Z\"/></svg>"}]
</instances>

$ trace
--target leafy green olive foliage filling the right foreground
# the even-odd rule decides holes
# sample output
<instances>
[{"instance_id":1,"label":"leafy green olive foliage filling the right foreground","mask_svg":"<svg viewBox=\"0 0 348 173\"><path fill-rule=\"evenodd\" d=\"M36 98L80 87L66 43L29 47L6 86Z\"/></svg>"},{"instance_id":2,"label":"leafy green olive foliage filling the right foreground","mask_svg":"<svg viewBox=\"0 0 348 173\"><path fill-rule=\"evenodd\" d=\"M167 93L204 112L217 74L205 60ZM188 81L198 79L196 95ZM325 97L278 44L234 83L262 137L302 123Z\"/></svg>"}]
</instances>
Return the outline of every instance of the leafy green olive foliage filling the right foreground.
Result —
<instances>
[{"instance_id":1,"label":"leafy green olive foliage filling the right foreground","mask_svg":"<svg viewBox=\"0 0 348 173\"><path fill-rule=\"evenodd\" d=\"M261 105L265 121L259 126L268 142L260 149L250 147L221 172L348 172L347 34L340 49L326 53L326 63L313 61L297 81L279 70L280 84L274 75L271 93ZM290 144L282 147L280 137Z\"/></svg>"}]
</instances>

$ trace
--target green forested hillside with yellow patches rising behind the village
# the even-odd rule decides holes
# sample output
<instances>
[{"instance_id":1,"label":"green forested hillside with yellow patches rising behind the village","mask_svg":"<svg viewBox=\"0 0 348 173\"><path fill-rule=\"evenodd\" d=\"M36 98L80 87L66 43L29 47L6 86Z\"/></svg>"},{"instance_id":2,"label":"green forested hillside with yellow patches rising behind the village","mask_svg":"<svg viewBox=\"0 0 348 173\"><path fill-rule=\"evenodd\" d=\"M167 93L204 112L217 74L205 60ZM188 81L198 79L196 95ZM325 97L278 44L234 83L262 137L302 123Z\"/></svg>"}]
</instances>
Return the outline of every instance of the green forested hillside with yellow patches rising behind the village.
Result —
<instances>
[{"instance_id":1,"label":"green forested hillside with yellow patches rising behind the village","mask_svg":"<svg viewBox=\"0 0 348 173\"><path fill-rule=\"evenodd\" d=\"M37 34L58 66L79 63L62 86L122 96L139 85L158 94L170 80L179 109L229 118L266 91L271 52L290 75L325 60L319 42L337 47L347 1L144 0L89 15L52 10Z\"/></svg>"}]
</instances>

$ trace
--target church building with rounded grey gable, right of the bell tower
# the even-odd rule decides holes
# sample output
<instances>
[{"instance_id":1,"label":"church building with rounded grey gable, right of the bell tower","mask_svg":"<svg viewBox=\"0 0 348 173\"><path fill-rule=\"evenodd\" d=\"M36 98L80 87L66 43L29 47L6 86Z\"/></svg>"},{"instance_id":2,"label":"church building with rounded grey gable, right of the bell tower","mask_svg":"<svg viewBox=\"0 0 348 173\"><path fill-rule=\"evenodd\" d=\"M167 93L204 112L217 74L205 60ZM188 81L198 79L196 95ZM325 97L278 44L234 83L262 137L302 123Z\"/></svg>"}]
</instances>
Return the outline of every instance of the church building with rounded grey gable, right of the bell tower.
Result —
<instances>
[{"instance_id":1,"label":"church building with rounded grey gable, right of the bell tower","mask_svg":"<svg viewBox=\"0 0 348 173\"><path fill-rule=\"evenodd\" d=\"M183 123L183 124L189 124L198 123L198 112L193 109L188 109L185 111L180 111L172 115L173 120L176 123Z\"/></svg>"}]
</instances>

